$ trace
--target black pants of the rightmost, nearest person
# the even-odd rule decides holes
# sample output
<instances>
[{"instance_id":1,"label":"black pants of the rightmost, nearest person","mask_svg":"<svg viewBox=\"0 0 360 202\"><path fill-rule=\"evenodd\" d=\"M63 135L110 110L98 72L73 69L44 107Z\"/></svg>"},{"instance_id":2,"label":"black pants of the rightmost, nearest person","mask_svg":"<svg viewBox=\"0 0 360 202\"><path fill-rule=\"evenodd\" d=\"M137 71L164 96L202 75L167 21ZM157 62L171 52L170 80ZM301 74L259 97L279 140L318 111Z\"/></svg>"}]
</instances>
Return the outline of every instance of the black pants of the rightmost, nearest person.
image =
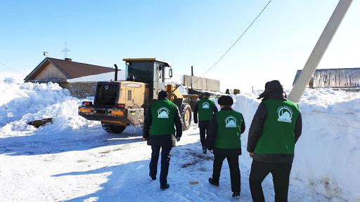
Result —
<instances>
[{"instance_id":1,"label":"black pants of the rightmost, nearest person","mask_svg":"<svg viewBox=\"0 0 360 202\"><path fill-rule=\"evenodd\" d=\"M262 181L269 173L273 175L275 201L288 201L289 178L292 164L293 163L252 161L249 178L252 201L265 201L262 191Z\"/></svg>"}]
</instances>

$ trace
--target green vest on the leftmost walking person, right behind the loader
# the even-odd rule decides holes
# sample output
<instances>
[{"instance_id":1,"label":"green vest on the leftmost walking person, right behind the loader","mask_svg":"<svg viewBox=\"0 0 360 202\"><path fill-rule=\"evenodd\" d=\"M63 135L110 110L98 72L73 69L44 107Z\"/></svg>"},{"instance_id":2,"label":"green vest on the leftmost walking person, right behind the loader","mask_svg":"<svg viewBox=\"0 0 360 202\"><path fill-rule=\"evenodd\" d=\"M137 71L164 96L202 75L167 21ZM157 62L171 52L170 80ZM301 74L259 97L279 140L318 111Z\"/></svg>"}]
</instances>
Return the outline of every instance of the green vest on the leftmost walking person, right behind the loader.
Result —
<instances>
[{"instance_id":1,"label":"green vest on the leftmost walking person, right behind the loader","mask_svg":"<svg viewBox=\"0 0 360 202\"><path fill-rule=\"evenodd\" d=\"M177 107L169 100L157 100L151 105L150 135L174 135L175 112Z\"/></svg>"}]
</instances>

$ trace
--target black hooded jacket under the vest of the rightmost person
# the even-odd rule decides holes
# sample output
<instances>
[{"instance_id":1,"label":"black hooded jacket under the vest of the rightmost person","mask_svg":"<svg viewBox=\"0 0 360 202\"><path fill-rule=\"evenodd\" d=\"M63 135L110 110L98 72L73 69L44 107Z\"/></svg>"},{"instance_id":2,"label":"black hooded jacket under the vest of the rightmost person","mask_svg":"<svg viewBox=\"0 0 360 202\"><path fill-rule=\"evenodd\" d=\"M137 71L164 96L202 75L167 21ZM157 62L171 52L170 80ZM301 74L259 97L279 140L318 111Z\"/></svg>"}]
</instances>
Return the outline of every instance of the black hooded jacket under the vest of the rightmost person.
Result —
<instances>
[{"instance_id":1,"label":"black hooded jacket under the vest of the rightmost person","mask_svg":"<svg viewBox=\"0 0 360 202\"><path fill-rule=\"evenodd\" d=\"M264 98L264 100L274 99L274 100L286 100L282 92L269 93L269 96ZM262 128L266 121L267 110L263 102L260 103L257 107L257 111L252 119L251 126L249 129L248 135L248 152L254 152L257 141L259 140L260 135L262 134ZM299 139L302 133L302 116L301 113L296 120L295 128L295 143ZM266 161L266 162L277 162L277 163L292 163L294 159L293 154L254 154L252 157L255 161Z\"/></svg>"}]
</instances>

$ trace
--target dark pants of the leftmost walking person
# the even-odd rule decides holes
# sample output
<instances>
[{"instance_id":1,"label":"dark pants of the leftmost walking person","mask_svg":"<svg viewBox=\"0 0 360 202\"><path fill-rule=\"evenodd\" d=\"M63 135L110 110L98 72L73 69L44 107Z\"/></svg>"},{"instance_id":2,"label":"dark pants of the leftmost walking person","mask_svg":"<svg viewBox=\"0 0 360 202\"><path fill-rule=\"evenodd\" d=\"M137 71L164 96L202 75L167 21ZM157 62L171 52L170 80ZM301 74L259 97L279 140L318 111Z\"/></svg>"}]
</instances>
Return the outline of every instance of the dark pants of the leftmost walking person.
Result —
<instances>
[{"instance_id":1,"label":"dark pants of the leftmost walking person","mask_svg":"<svg viewBox=\"0 0 360 202\"><path fill-rule=\"evenodd\" d=\"M161 147L161 171L160 171L160 185L167 184L167 173L169 173L170 150L172 146ZM158 159L160 154L160 146L151 146L151 161L150 161L150 175L156 176L158 173Z\"/></svg>"}]
</instances>

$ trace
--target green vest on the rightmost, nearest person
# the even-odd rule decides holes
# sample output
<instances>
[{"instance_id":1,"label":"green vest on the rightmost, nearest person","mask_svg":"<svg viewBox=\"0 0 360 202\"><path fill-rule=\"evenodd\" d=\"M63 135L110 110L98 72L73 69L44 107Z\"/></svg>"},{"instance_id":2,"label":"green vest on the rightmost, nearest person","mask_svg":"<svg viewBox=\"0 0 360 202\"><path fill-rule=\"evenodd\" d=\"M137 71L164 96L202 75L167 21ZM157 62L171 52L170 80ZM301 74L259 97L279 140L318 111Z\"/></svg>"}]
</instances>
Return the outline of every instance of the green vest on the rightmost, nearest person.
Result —
<instances>
[{"instance_id":1,"label":"green vest on the rightmost, nearest person","mask_svg":"<svg viewBox=\"0 0 360 202\"><path fill-rule=\"evenodd\" d=\"M294 154L295 124L300 110L288 100L264 101L267 116L255 154Z\"/></svg>"}]
</instances>

